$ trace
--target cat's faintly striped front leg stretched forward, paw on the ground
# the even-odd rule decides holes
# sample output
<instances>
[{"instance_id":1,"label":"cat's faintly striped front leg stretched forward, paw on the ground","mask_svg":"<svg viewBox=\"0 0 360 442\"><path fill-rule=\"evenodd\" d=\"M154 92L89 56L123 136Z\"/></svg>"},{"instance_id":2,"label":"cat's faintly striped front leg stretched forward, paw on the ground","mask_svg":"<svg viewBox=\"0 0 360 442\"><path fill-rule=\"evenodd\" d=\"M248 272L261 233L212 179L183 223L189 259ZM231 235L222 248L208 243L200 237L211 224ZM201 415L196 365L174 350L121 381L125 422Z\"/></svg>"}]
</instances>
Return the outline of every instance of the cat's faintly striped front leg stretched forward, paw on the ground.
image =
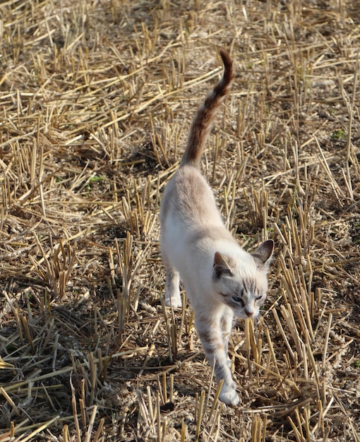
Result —
<instances>
[{"instance_id":1,"label":"cat's faintly striped front leg stretched forward, paw on the ground","mask_svg":"<svg viewBox=\"0 0 360 442\"><path fill-rule=\"evenodd\" d=\"M196 329L210 365L213 366L215 362L217 383L220 383L221 379L224 380L219 399L233 407L238 405L239 395L236 393L236 383L229 368L229 356L224 347L220 318L218 321L212 321L208 316L199 315L196 318Z\"/></svg>"}]
</instances>

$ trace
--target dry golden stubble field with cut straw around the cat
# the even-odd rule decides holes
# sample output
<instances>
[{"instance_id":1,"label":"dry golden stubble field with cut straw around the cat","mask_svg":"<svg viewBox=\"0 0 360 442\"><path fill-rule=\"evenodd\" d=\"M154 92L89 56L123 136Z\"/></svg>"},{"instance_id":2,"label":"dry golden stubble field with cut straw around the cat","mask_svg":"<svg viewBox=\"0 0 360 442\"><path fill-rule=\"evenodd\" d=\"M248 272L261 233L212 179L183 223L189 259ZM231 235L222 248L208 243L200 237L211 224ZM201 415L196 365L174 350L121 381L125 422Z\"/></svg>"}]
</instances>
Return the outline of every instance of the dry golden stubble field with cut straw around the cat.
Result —
<instances>
[{"instance_id":1,"label":"dry golden stubble field with cut straw around the cat","mask_svg":"<svg viewBox=\"0 0 360 442\"><path fill-rule=\"evenodd\" d=\"M158 211L231 52L203 172L275 240L217 400L165 309ZM360 4L0 4L0 441L360 441Z\"/></svg>"}]
</instances>

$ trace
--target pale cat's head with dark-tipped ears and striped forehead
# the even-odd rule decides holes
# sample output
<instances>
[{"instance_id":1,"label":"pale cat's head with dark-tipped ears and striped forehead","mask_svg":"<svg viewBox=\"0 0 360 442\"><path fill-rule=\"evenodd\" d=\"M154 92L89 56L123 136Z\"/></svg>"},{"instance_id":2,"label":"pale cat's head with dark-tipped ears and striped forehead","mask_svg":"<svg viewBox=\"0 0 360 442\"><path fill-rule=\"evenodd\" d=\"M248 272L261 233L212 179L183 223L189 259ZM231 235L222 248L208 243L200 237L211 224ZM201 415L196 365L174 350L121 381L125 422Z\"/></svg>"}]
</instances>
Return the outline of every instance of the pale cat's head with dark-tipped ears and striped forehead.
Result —
<instances>
[{"instance_id":1,"label":"pale cat's head with dark-tipped ears and striped forehead","mask_svg":"<svg viewBox=\"0 0 360 442\"><path fill-rule=\"evenodd\" d=\"M212 278L215 292L224 304L240 318L256 318L265 302L268 290L268 271L274 241L264 241L253 253L235 259L216 252Z\"/></svg>"}]
</instances>

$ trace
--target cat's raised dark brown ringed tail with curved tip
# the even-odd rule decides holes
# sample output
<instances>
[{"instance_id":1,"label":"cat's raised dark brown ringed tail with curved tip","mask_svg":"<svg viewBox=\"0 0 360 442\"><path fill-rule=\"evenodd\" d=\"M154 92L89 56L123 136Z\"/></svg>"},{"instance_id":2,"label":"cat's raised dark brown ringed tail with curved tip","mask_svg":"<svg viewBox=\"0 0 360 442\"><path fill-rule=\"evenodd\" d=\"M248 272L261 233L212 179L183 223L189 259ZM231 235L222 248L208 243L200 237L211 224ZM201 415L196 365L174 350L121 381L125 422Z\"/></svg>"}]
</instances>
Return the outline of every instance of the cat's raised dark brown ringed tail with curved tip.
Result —
<instances>
[{"instance_id":1,"label":"cat's raised dark brown ringed tail with curved tip","mask_svg":"<svg viewBox=\"0 0 360 442\"><path fill-rule=\"evenodd\" d=\"M219 83L205 98L203 105L198 109L193 124L191 125L190 135L188 136L188 144L181 166L193 165L200 167L200 156L208 139L208 135L215 119L217 108L224 100L225 95L229 92L232 80L234 80L234 68L229 53L224 49L220 50L222 62L224 63L224 75Z\"/></svg>"}]
</instances>

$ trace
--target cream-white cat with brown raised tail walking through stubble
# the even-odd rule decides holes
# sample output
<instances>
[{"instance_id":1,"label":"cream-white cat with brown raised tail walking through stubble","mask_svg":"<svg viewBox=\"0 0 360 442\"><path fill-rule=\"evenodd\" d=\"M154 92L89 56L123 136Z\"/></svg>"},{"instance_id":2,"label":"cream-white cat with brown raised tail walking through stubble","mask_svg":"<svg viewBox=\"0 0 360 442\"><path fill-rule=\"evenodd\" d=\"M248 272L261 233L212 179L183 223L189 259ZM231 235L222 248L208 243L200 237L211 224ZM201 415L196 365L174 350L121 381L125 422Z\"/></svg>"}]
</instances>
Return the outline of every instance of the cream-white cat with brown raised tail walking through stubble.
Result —
<instances>
[{"instance_id":1,"label":"cream-white cat with brown raised tail walking through stubble","mask_svg":"<svg viewBox=\"0 0 360 442\"><path fill-rule=\"evenodd\" d=\"M234 315L256 318L268 290L274 249L264 241L253 253L239 246L217 210L210 185L200 172L200 156L217 109L234 80L232 59L220 51L224 75L198 109L179 169L164 190L160 208L161 252L166 268L165 304L181 307L180 279L195 313L195 325L217 383L220 400L239 403L228 354Z\"/></svg>"}]
</instances>

